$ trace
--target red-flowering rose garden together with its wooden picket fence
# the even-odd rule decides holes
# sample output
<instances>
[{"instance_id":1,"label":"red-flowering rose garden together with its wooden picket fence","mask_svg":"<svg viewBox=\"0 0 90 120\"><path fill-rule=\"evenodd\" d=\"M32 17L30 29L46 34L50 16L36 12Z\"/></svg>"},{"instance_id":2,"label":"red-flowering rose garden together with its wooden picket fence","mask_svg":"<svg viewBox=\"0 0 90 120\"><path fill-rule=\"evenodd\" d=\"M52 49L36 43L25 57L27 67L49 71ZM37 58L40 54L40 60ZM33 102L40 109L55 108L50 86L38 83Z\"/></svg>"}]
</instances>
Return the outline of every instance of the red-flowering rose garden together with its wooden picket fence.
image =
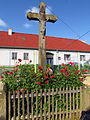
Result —
<instances>
[{"instance_id":1,"label":"red-flowering rose garden together with its wooden picket fence","mask_svg":"<svg viewBox=\"0 0 90 120\"><path fill-rule=\"evenodd\" d=\"M6 85L8 110L12 111L8 117L60 120L63 117L71 118L71 111L78 117L83 99L83 81L88 69L79 70L70 62L62 63L60 69L47 65L46 71L43 71L42 66L37 66L35 70L31 62L21 64L22 60L18 59L12 69L6 69L0 75Z\"/></svg>"}]
</instances>

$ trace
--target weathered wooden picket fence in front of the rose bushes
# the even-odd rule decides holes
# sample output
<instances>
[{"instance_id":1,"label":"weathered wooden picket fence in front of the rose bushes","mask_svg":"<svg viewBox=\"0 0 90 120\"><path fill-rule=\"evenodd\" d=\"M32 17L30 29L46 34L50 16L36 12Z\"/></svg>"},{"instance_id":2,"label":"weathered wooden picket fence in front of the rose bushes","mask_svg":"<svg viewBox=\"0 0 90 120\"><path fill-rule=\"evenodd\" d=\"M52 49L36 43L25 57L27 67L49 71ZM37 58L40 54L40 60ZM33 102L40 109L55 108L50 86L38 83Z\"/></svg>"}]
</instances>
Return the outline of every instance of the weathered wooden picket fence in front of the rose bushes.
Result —
<instances>
[{"instance_id":1,"label":"weathered wooden picket fence in front of the rose bushes","mask_svg":"<svg viewBox=\"0 0 90 120\"><path fill-rule=\"evenodd\" d=\"M73 120L81 111L82 87L8 92L8 120Z\"/></svg>"}]
</instances>

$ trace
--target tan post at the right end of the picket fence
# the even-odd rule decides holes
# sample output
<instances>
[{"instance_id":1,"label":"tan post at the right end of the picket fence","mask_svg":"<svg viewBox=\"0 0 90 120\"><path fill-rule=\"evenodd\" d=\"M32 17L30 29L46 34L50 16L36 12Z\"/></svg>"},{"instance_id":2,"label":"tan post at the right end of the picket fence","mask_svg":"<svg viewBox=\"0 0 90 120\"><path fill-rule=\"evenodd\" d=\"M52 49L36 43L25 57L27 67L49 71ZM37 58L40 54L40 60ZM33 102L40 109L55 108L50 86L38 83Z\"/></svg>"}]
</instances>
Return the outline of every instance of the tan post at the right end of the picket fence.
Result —
<instances>
[{"instance_id":1,"label":"tan post at the right end of the picket fence","mask_svg":"<svg viewBox=\"0 0 90 120\"><path fill-rule=\"evenodd\" d=\"M86 110L90 108L90 87L84 86L82 91L82 108Z\"/></svg>"}]
</instances>

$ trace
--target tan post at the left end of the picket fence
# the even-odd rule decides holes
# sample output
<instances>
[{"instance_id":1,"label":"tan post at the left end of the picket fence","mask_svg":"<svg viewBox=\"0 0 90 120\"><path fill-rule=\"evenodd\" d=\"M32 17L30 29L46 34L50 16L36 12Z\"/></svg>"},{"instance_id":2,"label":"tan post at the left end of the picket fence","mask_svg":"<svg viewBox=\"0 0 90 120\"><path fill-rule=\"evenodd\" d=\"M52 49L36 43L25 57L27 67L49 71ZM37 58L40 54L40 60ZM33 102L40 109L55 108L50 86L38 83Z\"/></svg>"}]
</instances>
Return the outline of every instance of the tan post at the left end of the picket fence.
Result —
<instances>
[{"instance_id":1,"label":"tan post at the left end of the picket fence","mask_svg":"<svg viewBox=\"0 0 90 120\"><path fill-rule=\"evenodd\" d=\"M0 80L0 120L6 120L6 92L5 86Z\"/></svg>"}]
</instances>

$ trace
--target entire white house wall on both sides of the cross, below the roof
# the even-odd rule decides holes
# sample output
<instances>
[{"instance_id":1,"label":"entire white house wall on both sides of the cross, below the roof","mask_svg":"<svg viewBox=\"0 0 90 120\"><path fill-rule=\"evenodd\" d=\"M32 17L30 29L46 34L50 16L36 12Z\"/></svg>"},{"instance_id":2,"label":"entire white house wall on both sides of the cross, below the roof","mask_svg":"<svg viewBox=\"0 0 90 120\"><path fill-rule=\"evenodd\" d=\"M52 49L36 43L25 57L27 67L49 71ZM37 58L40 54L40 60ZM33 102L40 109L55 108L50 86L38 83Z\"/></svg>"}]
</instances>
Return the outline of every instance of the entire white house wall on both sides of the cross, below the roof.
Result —
<instances>
[{"instance_id":1,"label":"entire white house wall on both sides of the cross, below the roof","mask_svg":"<svg viewBox=\"0 0 90 120\"><path fill-rule=\"evenodd\" d=\"M17 52L17 60L12 60L12 52ZM68 51L47 51L53 54L53 64L59 65L68 62L85 63L90 59L90 53L85 52L68 52ZM29 53L29 59L23 60L23 54ZM64 54L70 55L70 60L64 60ZM80 61L80 55L85 55L85 61ZM38 50L31 49L0 49L0 66L13 66L16 65L18 59L22 59L22 64L32 62L30 64L38 64Z\"/></svg>"}]
</instances>

